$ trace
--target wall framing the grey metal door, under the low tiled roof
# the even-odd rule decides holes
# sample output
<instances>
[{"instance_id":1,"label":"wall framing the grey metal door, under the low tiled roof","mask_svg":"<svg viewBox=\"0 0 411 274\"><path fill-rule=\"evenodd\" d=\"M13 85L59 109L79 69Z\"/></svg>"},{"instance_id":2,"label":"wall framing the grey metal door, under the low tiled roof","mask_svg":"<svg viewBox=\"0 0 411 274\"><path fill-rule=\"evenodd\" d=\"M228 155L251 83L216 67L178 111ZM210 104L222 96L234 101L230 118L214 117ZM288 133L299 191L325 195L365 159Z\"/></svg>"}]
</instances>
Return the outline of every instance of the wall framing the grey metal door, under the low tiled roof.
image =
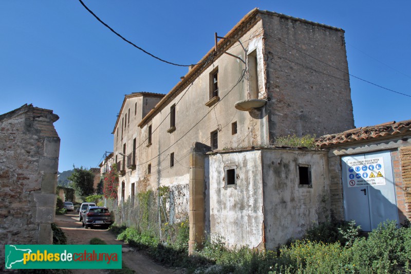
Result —
<instances>
[{"instance_id":1,"label":"wall framing the grey metal door, under the low tiled roof","mask_svg":"<svg viewBox=\"0 0 411 274\"><path fill-rule=\"evenodd\" d=\"M330 148L329 175L331 188L331 212L339 220L344 220L343 182L341 171L341 157L377 151L389 151L395 180L395 195L397 200L398 217L400 224L408 218L411 221L411 191L409 186L409 154L407 150L411 144L409 137L395 137L385 140L368 140L348 143Z\"/></svg>"}]
</instances>

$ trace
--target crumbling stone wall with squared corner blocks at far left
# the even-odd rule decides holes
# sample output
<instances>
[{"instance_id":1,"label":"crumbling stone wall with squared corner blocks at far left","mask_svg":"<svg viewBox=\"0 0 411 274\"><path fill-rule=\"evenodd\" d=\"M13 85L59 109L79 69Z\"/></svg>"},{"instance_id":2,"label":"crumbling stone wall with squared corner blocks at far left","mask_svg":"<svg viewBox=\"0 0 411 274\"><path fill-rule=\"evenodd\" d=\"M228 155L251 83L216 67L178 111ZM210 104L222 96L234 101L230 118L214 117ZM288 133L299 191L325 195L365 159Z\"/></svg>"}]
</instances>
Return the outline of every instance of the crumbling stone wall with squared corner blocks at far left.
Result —
<instances>
[{"instance_id":1,"label":"crumbling stone wall with squared corner blocks at far left","mask_svg":"<svg viewBox=\"0 0 411 274\"><path fill-rule=\"evenodd\" d=\"M0 115L0 243L52 244L60 138L49 109ZM4 248L0 261L4 261ZM4 266L2 266L4 267Z\"/></svg>"}]
</instances>

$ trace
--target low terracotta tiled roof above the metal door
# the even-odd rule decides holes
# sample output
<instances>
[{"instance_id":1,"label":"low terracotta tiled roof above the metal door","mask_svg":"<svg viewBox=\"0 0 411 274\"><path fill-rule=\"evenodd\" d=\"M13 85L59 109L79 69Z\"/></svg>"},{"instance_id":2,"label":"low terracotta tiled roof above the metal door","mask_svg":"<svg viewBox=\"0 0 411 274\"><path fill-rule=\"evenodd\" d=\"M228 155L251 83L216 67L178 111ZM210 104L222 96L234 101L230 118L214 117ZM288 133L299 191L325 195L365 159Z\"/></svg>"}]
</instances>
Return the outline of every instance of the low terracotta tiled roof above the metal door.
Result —
<instances>
[{"instance_id":1,"label":"low terracotta tiled roof above the metal door","mask_svg":"<svg viewBox=\"0 0 411 274\"><path fill-rule=\"evenodd\" d=\"M358 127L342 133L324 135L316 139L317 148L323 149L349 142L382 139L394 135L411 134L411 120L391 121L383 124Z\"/></svg>"}]
</instances>

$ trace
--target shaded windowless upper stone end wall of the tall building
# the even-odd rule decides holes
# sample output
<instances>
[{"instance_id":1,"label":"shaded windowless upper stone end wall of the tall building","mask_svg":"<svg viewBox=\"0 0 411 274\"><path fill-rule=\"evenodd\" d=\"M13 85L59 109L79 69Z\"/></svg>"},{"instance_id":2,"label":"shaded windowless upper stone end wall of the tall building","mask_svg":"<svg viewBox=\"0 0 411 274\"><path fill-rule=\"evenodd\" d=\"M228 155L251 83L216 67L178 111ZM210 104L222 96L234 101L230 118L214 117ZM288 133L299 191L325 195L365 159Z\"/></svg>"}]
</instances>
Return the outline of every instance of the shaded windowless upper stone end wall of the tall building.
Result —
<instances>
[{"instance_id":1,"label":"shaded windowless upper stone end wall of the tall building","mask_svg":"<svg viewBox=\"0 0 411 274\"><path fill-rule=\"evenodd\" d=\"M344 31L286 15L261 17L270 139L352 129Z\"/></svg>"}]
</instances>

